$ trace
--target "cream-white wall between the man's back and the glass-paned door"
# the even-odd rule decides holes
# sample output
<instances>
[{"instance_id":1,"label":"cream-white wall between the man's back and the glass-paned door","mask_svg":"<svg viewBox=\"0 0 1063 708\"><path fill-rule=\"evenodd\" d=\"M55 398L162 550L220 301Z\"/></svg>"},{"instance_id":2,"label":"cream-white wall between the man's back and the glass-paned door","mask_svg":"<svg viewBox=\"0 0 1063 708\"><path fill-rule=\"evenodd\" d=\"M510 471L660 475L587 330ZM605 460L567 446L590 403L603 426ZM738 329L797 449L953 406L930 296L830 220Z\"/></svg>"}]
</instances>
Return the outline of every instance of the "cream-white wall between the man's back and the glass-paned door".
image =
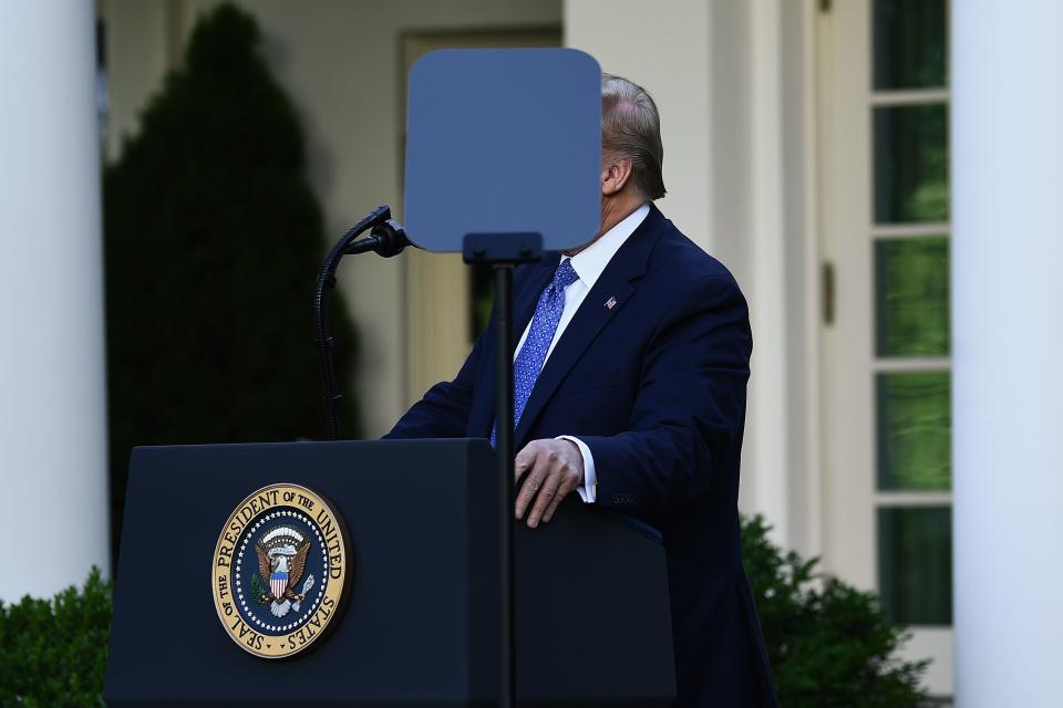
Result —
<instances>
[{"instance_id":1,"label":"cream-white wall between the man's back and the glass-paned door","mask_svg":"<svg viewBox=\"0 0 1063 708\"><path fill-rule=\"evenodd\" d=\"M750 301L741 506L763 512L778 541L815 551L809 25L807 3L787 0L565 4L566 44L658 103L669 190L658 206L734 272Z\"/></svg>"}]
</instances>

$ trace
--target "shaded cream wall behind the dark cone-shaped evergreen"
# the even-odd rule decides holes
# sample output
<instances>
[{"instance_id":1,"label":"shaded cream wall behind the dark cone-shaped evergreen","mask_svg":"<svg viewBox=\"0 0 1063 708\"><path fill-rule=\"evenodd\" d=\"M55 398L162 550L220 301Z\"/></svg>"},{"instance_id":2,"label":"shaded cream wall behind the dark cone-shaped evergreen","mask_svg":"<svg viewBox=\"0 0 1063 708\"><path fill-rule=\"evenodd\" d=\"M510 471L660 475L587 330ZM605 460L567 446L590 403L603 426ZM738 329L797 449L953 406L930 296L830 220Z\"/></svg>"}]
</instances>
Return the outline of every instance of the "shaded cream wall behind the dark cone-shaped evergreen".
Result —
<instances>
[{"instance_id":1,"label":"shaded cream wall behind the dark cone-shaped evergreen","mask_svg":"<svg viewBox=\"0 0 1063 708\"><path fill-rule=\"evenodd\" d=\"M147 4L166 7L149 11ZM110 0L109 29L118 34L112 39L110 63L135 64L143 53L155 66L158 48L167 41L159 18L163 25L165 17L177 21L180 35L187 38L197 13L215 4L216 0ZM556 25L561 18L559 0L242 0L237 4L257 19L265 56L299 111L308 138L310 179L324 208L330 242L376 205L400 201L404 32ZM143 23L124 21L140 15ZM156 39L146 42L131 32L151 32ZM128 73L115 74L115 80L127 76L137 86L115 91L115 101L124 105L115 105L114 133L133 127L131 115L146 98L144 87L157 85L144 77L152 70L123 71ZM340 268L339 290L361 341L359 402L367 436L388 431L411 399L423 393L407 392L405 386L400 259L363 256L345 260ZM312 345L309 339L308 345Z\"/></svg>"}]
</instances>

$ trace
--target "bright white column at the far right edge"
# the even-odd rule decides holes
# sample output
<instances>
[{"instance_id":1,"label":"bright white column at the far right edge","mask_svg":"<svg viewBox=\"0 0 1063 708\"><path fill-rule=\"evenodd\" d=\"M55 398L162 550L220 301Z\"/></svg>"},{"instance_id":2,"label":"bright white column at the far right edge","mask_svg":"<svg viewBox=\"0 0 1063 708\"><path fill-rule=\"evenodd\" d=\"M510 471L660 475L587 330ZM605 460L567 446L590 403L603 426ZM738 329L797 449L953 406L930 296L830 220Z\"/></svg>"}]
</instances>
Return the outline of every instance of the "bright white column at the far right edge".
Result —
<instances>
[{"instance_id":1,"label":"bright white column at the far right edge","mask_svg":"<svg viewBox=\"0 0 1063 708\"><path fill-rule=\"evenodd\" d=\"M952 28L958 705L1059 705L1063 666L1063 2Z\"/></svg>"}]
</instances>

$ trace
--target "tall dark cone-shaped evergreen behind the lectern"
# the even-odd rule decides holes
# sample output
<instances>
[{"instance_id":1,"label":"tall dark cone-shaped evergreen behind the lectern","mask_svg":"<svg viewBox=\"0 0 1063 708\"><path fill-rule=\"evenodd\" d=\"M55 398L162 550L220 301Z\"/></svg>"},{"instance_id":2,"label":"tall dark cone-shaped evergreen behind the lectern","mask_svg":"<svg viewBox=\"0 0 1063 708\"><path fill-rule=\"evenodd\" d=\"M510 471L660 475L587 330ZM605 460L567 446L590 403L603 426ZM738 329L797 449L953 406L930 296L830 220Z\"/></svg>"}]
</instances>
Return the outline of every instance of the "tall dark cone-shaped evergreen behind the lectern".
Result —
<instances>
[{"instance_id":1,"label":"tall dark cone-shaped evergreen behind the lectern","mask_svg":"<svg viewBox=\"0 0 1063 708\"><path fill-rule=\"evenodd\" d=\"M323 429L312 299L327 244L295 110L258 41L231 6L203 18L104 176L116 513L133 446ZM353 332L333 304L342 366Z\"/></svg>"}]
</instances>

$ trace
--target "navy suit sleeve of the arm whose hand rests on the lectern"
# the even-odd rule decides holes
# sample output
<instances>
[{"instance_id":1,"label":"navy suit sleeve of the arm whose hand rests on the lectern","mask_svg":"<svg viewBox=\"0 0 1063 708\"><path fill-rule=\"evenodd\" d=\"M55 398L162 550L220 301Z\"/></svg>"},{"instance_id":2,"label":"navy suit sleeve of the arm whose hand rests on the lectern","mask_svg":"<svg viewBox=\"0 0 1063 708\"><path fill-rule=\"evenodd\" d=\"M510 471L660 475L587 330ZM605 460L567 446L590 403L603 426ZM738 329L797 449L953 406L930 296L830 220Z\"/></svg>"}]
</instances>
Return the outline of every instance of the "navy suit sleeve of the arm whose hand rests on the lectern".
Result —
<instances>
[{"instance_id":1,"label":"navy suit sleeve of the arm whose hand rests on the lectern","mask_svg":"<svg viewBox=\"0 0 1063 708\"><path fill-rule=\"evenodd\" d=\"M650 340L627 431L580 436L595 459L597 502L664 510L736 472L753 340L730 278L695 281Z\"/></svg>"}]
</instances>

